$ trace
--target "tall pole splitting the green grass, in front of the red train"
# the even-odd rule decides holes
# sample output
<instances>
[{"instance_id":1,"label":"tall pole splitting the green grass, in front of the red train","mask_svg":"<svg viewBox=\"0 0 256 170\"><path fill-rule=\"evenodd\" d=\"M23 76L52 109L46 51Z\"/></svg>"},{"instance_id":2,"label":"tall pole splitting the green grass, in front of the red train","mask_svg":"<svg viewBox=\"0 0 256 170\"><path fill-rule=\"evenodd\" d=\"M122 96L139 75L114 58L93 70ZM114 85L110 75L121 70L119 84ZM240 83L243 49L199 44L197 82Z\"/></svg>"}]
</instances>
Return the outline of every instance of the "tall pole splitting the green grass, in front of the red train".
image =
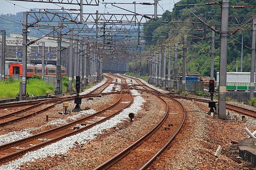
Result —
<instances>
[{"instance_id":1,"label":"tall pole splitting the green grass, in front of the red train","mask_svg":"<svg viewBox=\"0 0 256 170\"><path fill-rule=\"evenodd\" d=\"M22 28L22 83L20 84L20 100L22 100L22 95L26 94L26 62L27 62L27 38L28 38L28 30L27 30L27 17L28 13L23 12L23 28Z\"/></svg>"}]
</instances>

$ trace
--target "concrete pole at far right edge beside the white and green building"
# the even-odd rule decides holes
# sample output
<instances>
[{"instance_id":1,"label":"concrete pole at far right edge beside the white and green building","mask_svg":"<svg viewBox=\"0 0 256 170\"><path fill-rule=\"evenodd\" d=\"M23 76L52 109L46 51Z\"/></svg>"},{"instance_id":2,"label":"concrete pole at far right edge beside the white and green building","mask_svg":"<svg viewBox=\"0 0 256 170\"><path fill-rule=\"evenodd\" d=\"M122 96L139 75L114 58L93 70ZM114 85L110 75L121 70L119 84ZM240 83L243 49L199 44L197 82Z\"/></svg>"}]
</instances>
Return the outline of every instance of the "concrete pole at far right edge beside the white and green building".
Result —
<instances>
[{"instance_id":1,"label":"concrete pole at far right edge beside the white and green building","mask_svg":"<svg viewBox=\"0 0 256 170\"><path fill-rule=\"evenodd\" d=\"M250 74L250 99L254 96L254 71L255 71L255 44L256 43L256 17L253 18L252 34L252 55L251 55L251 74Z\"/></svg>"}]
</instances>

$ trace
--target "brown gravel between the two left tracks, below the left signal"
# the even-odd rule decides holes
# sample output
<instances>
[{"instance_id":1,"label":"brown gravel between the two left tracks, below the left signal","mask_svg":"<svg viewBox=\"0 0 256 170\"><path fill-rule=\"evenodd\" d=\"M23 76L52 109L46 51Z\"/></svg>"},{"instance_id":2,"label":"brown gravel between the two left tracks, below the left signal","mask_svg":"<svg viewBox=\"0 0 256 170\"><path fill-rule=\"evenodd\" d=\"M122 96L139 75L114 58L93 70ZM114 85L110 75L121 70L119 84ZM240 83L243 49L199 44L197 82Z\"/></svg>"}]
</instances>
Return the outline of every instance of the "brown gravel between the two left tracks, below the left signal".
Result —
<instances>
[{"instance_id":1,"label":"brown gravel between the two left tracks, below the left signal","mask_svg":"<svg viewBox=\"0 0 256 170\"><path fill-rule=\"evenodd\" d=\"M102 110L103 108L106 108L116 102L119 98L119 94L111 94L107 96L102 97L94 97L93 100L88 99L82 99L81 108L92 108L95 111ZM69 101L69 109L74 108L75 104L74 101ZM39 133L44 130L48 130L49 128L55 127L54 125L51 126L44 126L46 124L46 115L49 115L49 121L55 120L55 119L65 119L66 115L59 114L58 112L63 112L63 106L62 104L55 105L55 107L49 109L48 111L44 113L40 113L36 116L33 116L29 119L24 119L20 122L15 122L11 125L6 125L4 127L1 127L0 134L6 134L12 131L20 131L24 128L29 129L31 133ZM71 115L74 115L76 113L71 112ZM67 116L70 116L70 114L67 114ZM84 115L86 116L86 115ZM67 120L68 122L71 122L72 120ZM35 128L36 127L36 128Z\"/></svg>"}]
</instances>

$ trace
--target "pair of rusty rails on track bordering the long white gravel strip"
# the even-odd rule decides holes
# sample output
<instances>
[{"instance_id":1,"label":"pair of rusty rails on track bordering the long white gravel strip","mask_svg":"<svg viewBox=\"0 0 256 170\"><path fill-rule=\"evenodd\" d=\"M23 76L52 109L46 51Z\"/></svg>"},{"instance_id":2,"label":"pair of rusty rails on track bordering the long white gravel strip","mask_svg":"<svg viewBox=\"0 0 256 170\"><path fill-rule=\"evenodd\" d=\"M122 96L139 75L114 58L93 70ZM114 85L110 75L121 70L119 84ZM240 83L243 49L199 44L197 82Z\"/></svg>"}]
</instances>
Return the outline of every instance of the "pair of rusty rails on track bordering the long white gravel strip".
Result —
<instances>
[{"instance_id":1,"label":"pair of rusty rails on track bordering the long white gravel strip","mask_svg":"<svg viewBox=\"0 0 256 170\"><path fill-rule=\"evenodd\" d=\"M129 89L128 89L128 91L129 91ZM122 88L121 88L121 95L119 96L119 100L118 100L117 102L115 102L115 104L113 104L113 105L111 105L110 107L105 108L105 109L103 109L103 110L101 110L101 111L99 111L99 112L97 112L97 113L94 113L93 115L86 116L86 117L84 117L84 118L81 118L81 119L78 119L78 120L76 120L76 121L73 121L73 122L71 122L71 123L69 123L69 124L66 124L66 125L63 125L63 126L60 126L60 127L56 127L56 128L54 128L54 129L50 129L50 130L47 130L47 131L42 132L42 133L38 133L38 134L36 134L36 135L29 136L29 137L26 137L26 138L24 138L24 139L17 140L17 141L15 141L15 142L10 142L10 143L1 145L1 146L0 146L0 150L8 149L9 147L13 147L13 146L16 146L16 145L18 145L18 144L23 144L23 143L29 142L29 141L31 141L31 140L38 139L38 138L41 137L41 136L46 136L46 135L48 135L48 134L51 134L51 133L54 133L54 132L58 132L58 131L60 131L60 130L66 129L66 128L72 126L72 125L76 125L76 124L79 123L79 122L83 122L83 121L85 121L85 120L88 120L88 119L90 119L90 118L93 118L94 116L97 116L97 115L99 115L100 113L103 113L104 111L107 111L107 110L109 110L109 109L111 109L111 108L114 108L116 105L118 105L118 104L122 101L122 98L123 98L123 95L122 95L122 94L125 94L125 93L122 92ZM128 107L134 102L134 98L133 98L133 96L132 96L132 94L131 94L131 91L129 91L129 95L131 96L131 101L129 102L129 104L128 104L128 105L125 105L124 107L122 107L121 109L119 109L119 110L116 111L115 113L111 114L110 116L107 116L107 117L105 117L104 119L101 119L101 120L99 120L99 121L97 121L97 122L94 122L94 123L92 123L92 124L90 124L90 125L88 125L88 126L86 126L86 127L82 127L82 128L80 128L80 129L78 129L78 130L76 130L76 131L73 131L73 132L70 132L70 133L67 133L67 134L58 136L58 137L56 137L56 138L54 138L54 139L50 139L49 141L42 142L42 143L40 143L40 144L36 144L36 145L34 145L34 146L32 146L32 147L28 147L28 148L26 148L26 149L17 151L17 152L15 152L15 153L11 153L11 154L8 154L8 155L6 155L6 156L2 156L2 157L0 157L0 163L9 161L10 159L13 159L13 158L15 158L15 157L17 157L17 156L20 156L20 155L23 154L23 153L26 153L26 152L31 151L31 150L36 150L36 149L38 149L38 148L40 148L40 147L43 147L43 146L46 146L46 145L51 144L51 143L53 143L53 142L56 142L56 141L58 141L58 140L61 140L61 139L65 138L65 137L67 137L67 136L72 136L72 135L74 135L74 134L76 134L76 133L79 133L79 132L81 132L81 131L83 131L83 130L87 130L87 129L89 129L90 127L93 127L93 126L95 126L95 125L98 125L99 123L105 122L106 120L108 120L108 119L110 119L111 117L113 117L113 116L117 115L118 113L120 113L123 109L128 108Z\"/></svg>"}]
</instances>

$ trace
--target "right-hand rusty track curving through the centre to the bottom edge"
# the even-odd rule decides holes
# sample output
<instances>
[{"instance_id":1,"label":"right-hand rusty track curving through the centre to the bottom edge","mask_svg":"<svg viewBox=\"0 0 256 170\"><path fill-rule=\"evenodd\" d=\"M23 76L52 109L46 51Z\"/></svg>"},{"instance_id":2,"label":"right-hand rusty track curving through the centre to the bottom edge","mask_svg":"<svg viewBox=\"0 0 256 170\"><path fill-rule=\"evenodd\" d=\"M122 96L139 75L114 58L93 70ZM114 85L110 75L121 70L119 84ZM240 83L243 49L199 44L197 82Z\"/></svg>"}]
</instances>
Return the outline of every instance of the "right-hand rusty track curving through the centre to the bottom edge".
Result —
<instances>
[{"instance_id":1,"label":"right-hand rusty track curving through the centre to the bottom edge","mask_svg":"<svg viewBox=\"0 0 256 170\"><path fill-rule=\"evenodd\" d=\"M139 85L143 85L139 79L135 80ZM147 93L157 96L165 103L164 116L148 133L94 170L147 169L166 150L183 126L186 111L180 102L166 95L160 96L146 85L143 87Z\"/></svg>"}]
</instances>

